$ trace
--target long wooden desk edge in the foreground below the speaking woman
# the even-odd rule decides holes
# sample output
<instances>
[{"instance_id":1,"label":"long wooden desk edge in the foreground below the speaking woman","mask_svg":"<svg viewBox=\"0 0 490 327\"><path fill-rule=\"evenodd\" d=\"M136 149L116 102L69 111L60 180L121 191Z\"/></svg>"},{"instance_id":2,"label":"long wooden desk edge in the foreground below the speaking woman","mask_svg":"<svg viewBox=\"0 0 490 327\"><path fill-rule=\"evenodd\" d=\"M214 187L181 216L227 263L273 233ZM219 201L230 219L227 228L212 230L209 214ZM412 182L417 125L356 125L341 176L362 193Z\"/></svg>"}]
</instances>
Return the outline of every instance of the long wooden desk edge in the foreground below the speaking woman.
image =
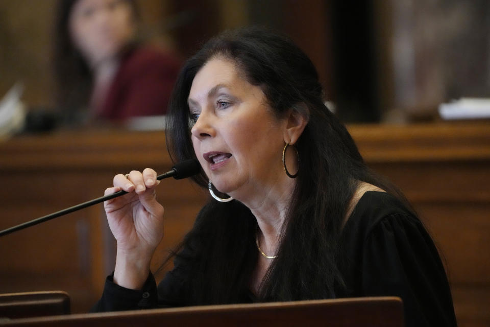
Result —
<instances>
[{"instance_id":1,"label":"long wooden desk edge in the foreground below the speaking woman","mask_svg":"<svg viewBox=\"0 0 490 327\"><path fill-rule=\"evenodd\" d=\"M5 327L403 327L399 297L151 309L1 321Z\"/></svg>"}]
</instances>

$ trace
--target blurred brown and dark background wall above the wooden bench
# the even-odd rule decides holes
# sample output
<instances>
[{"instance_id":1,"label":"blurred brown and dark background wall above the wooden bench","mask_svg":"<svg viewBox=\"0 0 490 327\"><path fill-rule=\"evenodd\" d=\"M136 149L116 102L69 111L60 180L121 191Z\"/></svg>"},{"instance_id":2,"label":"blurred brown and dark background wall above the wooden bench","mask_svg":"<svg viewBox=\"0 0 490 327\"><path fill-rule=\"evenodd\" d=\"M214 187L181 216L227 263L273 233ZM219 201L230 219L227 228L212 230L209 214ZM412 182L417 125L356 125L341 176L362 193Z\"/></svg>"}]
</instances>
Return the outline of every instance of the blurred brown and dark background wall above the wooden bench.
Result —
<instances>
[{"instance_id":1,"label":"blurred brown and dark background wall above the wooden bench","mask_svg":"<svg viewBox=\"0 0 490 327\"><path fill-rule=\"evenodd\" d=\"M311 57L347 122L434 119L439 103L490 93L486 0L139 0L145 35L187 58L210 36L259 24ZM53 106L55 0L0 2L0 95L17 81Z\"/></svg>"}]
</instances>

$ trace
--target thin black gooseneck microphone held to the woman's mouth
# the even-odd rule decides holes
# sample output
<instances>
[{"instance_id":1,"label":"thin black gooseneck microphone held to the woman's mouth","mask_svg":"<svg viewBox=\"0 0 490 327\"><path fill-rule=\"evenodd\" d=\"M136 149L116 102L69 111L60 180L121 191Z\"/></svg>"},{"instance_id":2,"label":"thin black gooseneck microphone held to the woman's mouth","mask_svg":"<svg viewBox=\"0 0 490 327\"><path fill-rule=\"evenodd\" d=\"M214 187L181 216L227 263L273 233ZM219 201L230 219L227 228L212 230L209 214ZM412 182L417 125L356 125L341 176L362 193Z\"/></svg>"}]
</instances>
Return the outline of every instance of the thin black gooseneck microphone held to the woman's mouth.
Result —
<instances>
[{"instance_id":1,"label":"thin black gooseneck microphone held to the woman's mouth","mask_svg":"<svg viewBox=\"0 0 490 327\"><path fill-rule=\"evenodd\" d=\"M200 171L201 171L201 165L199 164L199 161L197 159L185 160L185 161L182 161L179 164L175 165L174 167L172 167L172 169L170 171L168 171L164 174L158 175L157 180L162 180L162 179L168 178L168 177L174 177L175 179L183 179L183 178L187 178L187 177L196 175ZM20 225L4 229L4 230L0 231L0 237L7 235L7 234L10 234L10 233L17 231L17 230L20 230L20 229L24 229L24 228L34 226L34 225L40 224L42 222L45 222L45 221L66 215L66 214L70 214L72 212L78 211L78 210L86 208L88 206L91 206L91 205L94 205L97 203L101 203L101 202L104 202L104 201L107 201L110 199L117 198L118 196L121 196L121 195L124 195L127 193L128 192L121 190L121 191L118 191L118 192L113 193L113 194L108 194L108 195L102 196L100 198L96 198L96 199L93 199L93 200L90 200L90 201L87 201L84 203L74 205L72 207L63 209L63 210L58 211L56 213L53 213L51 215L36 218L34 220L22 223Z\"/></svg>"}]
</instances>

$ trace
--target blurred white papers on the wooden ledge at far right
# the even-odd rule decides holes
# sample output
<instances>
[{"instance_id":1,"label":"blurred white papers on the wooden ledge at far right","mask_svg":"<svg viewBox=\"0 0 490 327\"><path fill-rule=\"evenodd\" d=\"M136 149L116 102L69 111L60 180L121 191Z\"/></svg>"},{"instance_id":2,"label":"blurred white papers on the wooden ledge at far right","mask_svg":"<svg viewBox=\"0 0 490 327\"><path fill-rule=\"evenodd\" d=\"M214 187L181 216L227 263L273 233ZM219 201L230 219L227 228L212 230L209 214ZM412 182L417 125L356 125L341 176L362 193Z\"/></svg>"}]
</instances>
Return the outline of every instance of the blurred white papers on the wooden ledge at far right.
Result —
<instances>
[{"instance_id":1,"label":"blurred white papers on the wooden ledge at far right","mask_svg":"<svg viewBox=\"0 0 490 327\"><path fill-rule=\"evenodd\" d=\"M439 105L442 119L488 119L490 118L490 99L461 98L451 103Z\"/></svg>"}]
</instances>

